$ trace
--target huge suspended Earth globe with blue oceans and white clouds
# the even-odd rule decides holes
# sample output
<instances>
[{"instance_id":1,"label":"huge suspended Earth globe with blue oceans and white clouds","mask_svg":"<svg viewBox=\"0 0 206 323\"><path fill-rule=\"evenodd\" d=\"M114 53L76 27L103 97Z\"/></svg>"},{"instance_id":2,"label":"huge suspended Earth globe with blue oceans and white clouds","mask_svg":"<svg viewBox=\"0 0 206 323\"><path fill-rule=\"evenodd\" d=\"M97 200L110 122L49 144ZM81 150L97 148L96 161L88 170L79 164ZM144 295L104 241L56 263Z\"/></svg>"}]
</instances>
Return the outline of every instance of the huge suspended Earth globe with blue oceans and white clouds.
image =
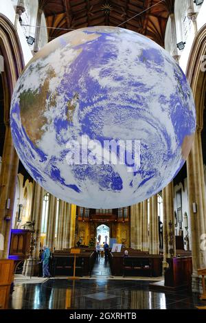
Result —
<instances>
[{"instance_id":1,"label":"huge suspended Earth globe with blue oceans and white clouds","mask_svg":"<svg viewBox=\"0 0 206 323\"><path fill-rule=\"evenodd\" d=\"M150 39L87 27L47 44L16 83L10 122L23 166L54 196L87 208L148 199L192 147L183 71Z\"/></svg>"}]
</instances>

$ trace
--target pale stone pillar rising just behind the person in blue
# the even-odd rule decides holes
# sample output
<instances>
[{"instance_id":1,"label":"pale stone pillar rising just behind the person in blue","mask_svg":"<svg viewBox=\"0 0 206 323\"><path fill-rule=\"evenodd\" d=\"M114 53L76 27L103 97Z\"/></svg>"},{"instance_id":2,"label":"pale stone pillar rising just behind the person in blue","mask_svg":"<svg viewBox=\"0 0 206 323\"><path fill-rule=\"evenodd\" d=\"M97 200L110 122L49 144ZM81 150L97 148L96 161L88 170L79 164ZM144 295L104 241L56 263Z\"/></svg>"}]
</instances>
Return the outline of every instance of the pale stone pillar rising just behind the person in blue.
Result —
<instances>
[{"instance_id":1,"label":"pale stone pillar rising just behind the person in blue","mask_svg":"<svg viewBox=\"0 0 206 323\"><path fill-rule=\"evenodd\" d=\"M49 213L47 218L47 238L46 245L51 252L54 252L55 247L55 231L56 231L56 211L57 199L54 195L49 195Z\"/></svg>"}]
</instances>

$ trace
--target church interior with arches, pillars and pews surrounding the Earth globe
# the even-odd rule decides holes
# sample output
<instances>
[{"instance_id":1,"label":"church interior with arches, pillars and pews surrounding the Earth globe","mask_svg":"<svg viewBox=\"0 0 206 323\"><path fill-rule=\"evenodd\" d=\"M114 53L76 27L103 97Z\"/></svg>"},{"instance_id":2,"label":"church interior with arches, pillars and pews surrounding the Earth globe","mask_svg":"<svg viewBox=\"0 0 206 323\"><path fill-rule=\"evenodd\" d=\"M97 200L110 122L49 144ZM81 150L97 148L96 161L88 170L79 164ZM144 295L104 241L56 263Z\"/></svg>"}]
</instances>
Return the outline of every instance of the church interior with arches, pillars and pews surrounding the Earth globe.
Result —
<instances>
[{"instance_id":1,"label":"church interior with arches, pillars and pews surrounding the Earth globe","mask_svg":"<svg viewBox=\"0 0 206 323\"><path fill-rule=\"evenodd\" d=\"M203 0L0 1L0 309L206 309L205 16ZM196 109L192 149L174 179L111 209L47 192L19 159L10 125L27 63L58 36L100 25L163 47Z\"/></svg>"}]
</instances>

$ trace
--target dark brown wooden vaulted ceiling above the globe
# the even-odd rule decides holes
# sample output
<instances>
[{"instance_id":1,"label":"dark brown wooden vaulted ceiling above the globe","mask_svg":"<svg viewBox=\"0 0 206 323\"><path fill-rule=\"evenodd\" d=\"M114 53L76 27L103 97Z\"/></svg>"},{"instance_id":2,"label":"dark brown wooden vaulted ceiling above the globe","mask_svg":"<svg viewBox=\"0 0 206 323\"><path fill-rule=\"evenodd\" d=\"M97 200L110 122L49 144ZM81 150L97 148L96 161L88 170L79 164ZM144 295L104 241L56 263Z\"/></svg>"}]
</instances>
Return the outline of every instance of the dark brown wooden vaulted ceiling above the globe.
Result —
<instances>
[{"instance_id":1,"label":"dark brown wooden vaulted ceiling above the globe","mask_svg":"<svg viewBox=\"0 0 206 323\"><path fill-rule=\"evenodd\" d=\"M47 27L52 27L48 28L49 41L69 30L82 27L120 25L144 34L164 46L165 27L174 10L174 0L159 2L160 0L39 0L39 5L45 14ZM144 12L141 13L142 11ZM137 14L139 15L135 16ZM135 18L131 19L133 16Z\"/></svg>"}]
</instances>

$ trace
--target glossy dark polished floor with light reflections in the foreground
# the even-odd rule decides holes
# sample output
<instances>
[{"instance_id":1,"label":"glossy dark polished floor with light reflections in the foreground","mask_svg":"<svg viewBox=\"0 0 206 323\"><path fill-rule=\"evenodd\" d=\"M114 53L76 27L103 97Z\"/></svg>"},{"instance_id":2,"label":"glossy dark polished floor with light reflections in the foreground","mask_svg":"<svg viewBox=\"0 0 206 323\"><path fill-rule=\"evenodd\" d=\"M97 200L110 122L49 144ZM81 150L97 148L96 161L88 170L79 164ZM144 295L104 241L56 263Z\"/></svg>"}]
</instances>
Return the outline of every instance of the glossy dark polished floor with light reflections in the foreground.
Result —
<instances>
[{"instance_id":1,"label":"glossy dark polished floor with light reflections in the foreground","mask_svg":"<svg viewBox=\"0 0 206 323\"><path fill-rule=\"evenodd\" d=\"M149 281L49 279L14 287L9 309L195 309L206 305L187 291L150 291Z\"/></svg>"}]
</instances>

